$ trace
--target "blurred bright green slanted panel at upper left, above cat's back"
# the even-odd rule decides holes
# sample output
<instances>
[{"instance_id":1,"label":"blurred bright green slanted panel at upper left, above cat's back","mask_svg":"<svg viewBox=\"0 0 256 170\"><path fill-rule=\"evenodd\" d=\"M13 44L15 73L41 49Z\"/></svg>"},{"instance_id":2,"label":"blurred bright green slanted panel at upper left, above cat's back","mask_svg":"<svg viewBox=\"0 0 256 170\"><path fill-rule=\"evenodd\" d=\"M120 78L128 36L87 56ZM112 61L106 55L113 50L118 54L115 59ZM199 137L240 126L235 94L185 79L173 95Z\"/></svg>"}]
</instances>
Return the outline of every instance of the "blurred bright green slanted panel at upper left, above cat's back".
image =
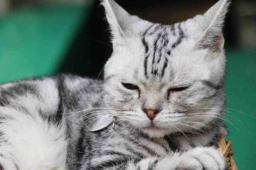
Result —
<instances>
[{"instance_id":1,"label":"blurred bright green slanted panel at upper left, above cat's back","mask_svg":"<svg viewBox=\"0 0 256 170\"><path fill-rule=\"evenodd\" d=\"M0 82L55 74L84 6L25 6L0 18Z\"/></svg>"}]
</instances>

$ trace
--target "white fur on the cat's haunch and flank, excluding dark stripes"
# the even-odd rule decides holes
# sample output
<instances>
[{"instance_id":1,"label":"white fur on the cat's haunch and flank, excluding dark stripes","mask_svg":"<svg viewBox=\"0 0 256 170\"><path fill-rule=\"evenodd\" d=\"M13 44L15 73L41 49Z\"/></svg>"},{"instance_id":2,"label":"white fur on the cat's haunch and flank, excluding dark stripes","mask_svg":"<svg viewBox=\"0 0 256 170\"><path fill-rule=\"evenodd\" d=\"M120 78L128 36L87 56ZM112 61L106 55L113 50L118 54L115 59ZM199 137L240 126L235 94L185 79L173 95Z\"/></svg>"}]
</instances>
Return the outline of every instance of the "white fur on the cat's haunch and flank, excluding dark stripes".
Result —
<instances>
[{"instance_id":1,"label":"white fur on the cat's haunch and flank, excluding dark stripes","mask_svg":"<svg viewBox=\"0 0 256 170\"><path fill-rule=\"evenodd\" d=\"M56 113L58 92L49 79L39 83L35 87L40 98L27 93L11 99L13 106L0 107L0 138L6 141L0 144L4 170L17 170L16 166L19 170L65 170L66 128L48 123L38 112Z\"/></svg>"}]
</instances>

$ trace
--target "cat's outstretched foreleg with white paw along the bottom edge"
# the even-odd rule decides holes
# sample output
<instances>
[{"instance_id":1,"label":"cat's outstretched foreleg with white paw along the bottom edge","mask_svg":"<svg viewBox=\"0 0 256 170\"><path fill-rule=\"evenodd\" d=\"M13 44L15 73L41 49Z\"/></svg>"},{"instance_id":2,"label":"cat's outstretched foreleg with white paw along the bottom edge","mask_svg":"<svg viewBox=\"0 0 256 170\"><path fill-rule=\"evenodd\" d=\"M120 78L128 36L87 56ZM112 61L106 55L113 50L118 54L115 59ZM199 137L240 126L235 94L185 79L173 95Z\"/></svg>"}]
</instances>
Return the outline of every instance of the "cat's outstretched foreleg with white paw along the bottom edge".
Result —
<instances>
[{"instance_id":1,"label":"cat's outstretched foreleg with white paw along the bottom edge","mask_svg":"<svg viewBox=\"0 0 256 170\"><path fill-rule=\"evenodd\" d=\"M165 158L135 159L116 164L122 160L112 160L111 164L98 164L89 169L97 170L224 170L223 156L212 147L197 147L184 153L174 153ZM112 165L112 166L111 166Z\"/></svg>"}]
</instances>

